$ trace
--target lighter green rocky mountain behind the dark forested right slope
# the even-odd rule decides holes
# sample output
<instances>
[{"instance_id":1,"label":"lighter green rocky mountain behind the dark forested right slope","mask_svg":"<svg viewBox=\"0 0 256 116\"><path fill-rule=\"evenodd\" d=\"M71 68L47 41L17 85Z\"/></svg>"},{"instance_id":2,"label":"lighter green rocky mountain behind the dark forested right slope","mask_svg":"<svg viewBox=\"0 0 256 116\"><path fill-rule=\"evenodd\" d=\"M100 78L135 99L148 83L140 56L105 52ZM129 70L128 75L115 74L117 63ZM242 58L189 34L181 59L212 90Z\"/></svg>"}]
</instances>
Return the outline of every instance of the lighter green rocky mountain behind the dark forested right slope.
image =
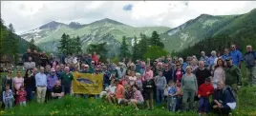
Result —
<instances>
[{"instance_id":1,"label":"lighter green rocky mountain behind the dark forested right slope","mask_svg":"<svg viewBox=\"0 0 256 116\"><path fill-rule=\"evenodd\" d=\"M181 26L170 29L160 35L164 46L171 52L192 46L203 40L205 37L212 36L219 29L223 29L234 19L241 15L213 16L202 14L196 19L189 20Z\"/></svg>"}]
</instances>

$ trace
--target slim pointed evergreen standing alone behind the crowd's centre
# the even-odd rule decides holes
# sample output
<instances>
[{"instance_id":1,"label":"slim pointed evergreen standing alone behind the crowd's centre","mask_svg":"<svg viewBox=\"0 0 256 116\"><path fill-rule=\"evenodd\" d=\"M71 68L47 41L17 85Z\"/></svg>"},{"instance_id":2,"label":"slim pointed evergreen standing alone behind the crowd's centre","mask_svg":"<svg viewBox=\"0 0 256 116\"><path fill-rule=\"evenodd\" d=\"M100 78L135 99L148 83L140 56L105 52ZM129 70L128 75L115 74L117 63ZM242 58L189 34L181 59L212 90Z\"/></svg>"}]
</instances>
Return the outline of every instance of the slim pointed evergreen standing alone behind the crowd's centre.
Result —
<instances>
[{"instance_id":1,"label":"slim pointed evergreen standing alone behind the crowd's centre","mask_svg":"<svg viewBox=\"0 0 256 116\"><path fill-rule=\"evenodd\" d=\"M120 59L122 59L122 58L127 58L128 56L130 56L130 51L128 48L128 44L126 43L126 37L123 36L121 47L120 47L119 57L120 57Z\"/></svg>"}]
</instances>

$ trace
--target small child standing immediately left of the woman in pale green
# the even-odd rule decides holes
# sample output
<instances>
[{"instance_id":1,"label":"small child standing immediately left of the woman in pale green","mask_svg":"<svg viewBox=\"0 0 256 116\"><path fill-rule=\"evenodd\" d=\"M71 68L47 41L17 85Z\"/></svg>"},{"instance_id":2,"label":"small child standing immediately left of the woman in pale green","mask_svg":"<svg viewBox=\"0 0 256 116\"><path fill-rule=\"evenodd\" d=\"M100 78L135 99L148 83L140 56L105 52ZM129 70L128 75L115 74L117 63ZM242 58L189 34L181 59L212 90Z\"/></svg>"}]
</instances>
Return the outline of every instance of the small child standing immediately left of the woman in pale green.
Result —
<instances>
[{"instance_id":1,"label":"small child standing immediately left of the woman in pale green","mask_svg":"<svg viewBox=\"0 0 256 116\"><path fill-rule=\"evenodd\" d=\"M176 109L175 110L180 110L181 109L181 103L182 103L182 91L181 91L181 83L178 81L176 83L177 85L177 103L176 103Z\"/></svg>"}]
</instances>

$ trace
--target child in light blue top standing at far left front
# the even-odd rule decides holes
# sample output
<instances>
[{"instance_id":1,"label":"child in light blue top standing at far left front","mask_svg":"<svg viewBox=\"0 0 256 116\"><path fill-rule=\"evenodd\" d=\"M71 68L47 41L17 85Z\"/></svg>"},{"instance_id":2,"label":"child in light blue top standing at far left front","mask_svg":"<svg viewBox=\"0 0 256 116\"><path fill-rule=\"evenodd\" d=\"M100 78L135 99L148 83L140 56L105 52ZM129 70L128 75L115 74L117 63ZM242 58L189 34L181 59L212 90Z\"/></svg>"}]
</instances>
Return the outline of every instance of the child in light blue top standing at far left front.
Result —
<instances>
[{"instance_id":1,"label":"child in light blue top standing at far left front","mask_svg":"<svg viewBox=\"0 0 256 116\"><path fill-rule=\"evenodd\" d=\"M11 108L14 101L13 93L10 89L10 85L6 85L6 90L3 91L3 102L5 104L5 109Z\"/></svg>"}]
</instances>

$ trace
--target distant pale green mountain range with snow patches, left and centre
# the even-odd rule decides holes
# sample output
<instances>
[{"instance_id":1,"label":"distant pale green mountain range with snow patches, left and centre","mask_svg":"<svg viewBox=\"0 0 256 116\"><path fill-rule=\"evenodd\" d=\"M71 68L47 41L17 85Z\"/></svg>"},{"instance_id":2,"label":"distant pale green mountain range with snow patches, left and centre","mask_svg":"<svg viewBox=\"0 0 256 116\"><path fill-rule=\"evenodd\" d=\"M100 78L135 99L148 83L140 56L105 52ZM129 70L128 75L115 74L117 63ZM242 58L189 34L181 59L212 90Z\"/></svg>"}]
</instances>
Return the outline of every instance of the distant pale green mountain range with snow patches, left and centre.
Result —
<instances>
[{"instance_id":1,"label":"distant pale green mountain range with snow patches, left and centre","mask_svg":"<svg viewBox=\"0 0 256 116\"><path fill-rule=\"evenodd\" d=\"M70 23L69 25L50 22L37 29L22 33L20 36L27 41L32 38L35 44L46 51L56 52L57 46L61 35L65 32L71 37L79 36L82 42L82 49L85 51L88 45L106 42L110 52L117 53L121 38L125 35L128 38L128 43L131 45L134 35L139 37L139 33L151 35L154 30L159 33L163 33L170 28L167 27L143 27L135 28L125 25L115 20L105 18L95 21L87 25L81 25L79 23ZM113 54L117 55L117 54Z\"/></svg>"}]
</instances>

